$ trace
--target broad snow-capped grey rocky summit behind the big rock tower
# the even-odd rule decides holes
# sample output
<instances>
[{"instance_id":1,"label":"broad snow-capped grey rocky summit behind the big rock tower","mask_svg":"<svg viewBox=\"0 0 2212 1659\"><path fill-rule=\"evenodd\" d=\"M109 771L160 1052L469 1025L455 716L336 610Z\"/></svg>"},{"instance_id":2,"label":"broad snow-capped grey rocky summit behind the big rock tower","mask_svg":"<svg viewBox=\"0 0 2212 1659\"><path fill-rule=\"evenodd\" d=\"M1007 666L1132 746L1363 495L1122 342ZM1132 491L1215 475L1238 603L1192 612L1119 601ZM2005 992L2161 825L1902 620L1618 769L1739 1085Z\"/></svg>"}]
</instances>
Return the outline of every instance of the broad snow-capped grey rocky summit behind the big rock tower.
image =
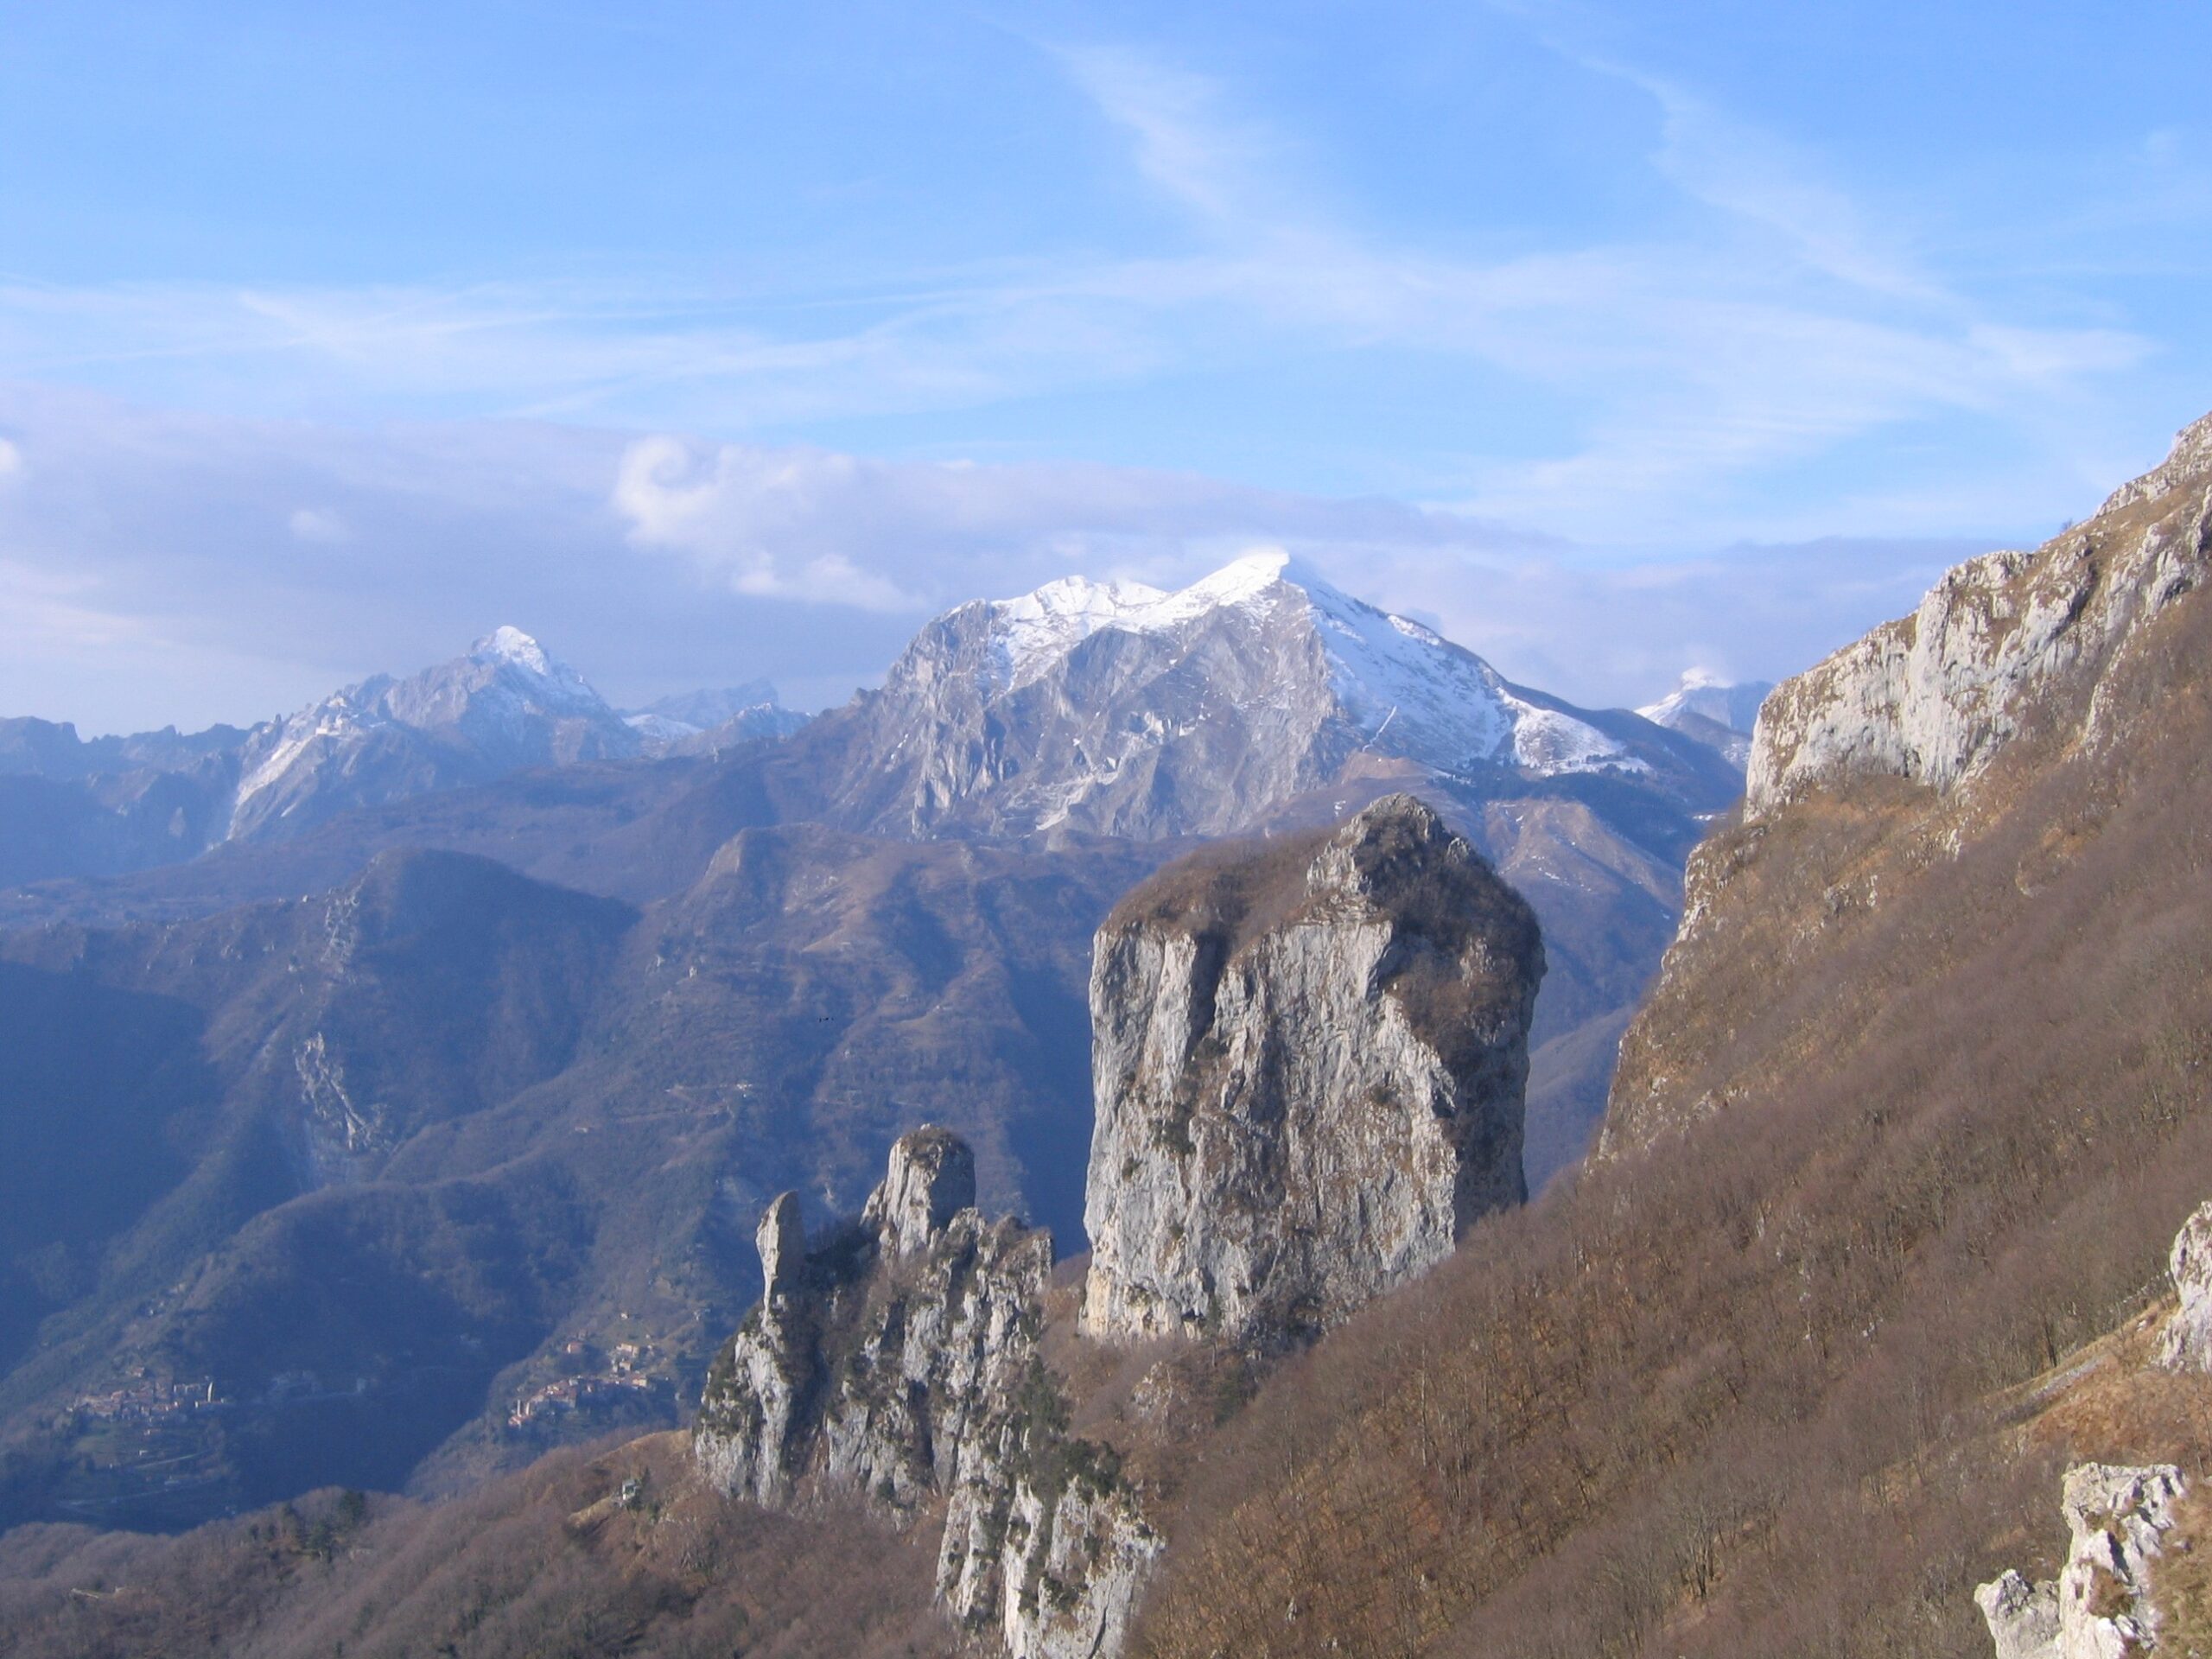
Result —
<instances>
[{"instance_id":1,"label":"broad snow-capped grey rocky summit behind the big rock tower","mask_svg":"<svg viewBox=\"0 0 2212 1659\"><path fill-rule=\"evenodd\" d=\"M845 726L838 805L887 834L1225 834L1383 776L1495 792L1679 763L1281 551L1177 593L1062 577L964 604Z\"/></svg>"}]
</instances>

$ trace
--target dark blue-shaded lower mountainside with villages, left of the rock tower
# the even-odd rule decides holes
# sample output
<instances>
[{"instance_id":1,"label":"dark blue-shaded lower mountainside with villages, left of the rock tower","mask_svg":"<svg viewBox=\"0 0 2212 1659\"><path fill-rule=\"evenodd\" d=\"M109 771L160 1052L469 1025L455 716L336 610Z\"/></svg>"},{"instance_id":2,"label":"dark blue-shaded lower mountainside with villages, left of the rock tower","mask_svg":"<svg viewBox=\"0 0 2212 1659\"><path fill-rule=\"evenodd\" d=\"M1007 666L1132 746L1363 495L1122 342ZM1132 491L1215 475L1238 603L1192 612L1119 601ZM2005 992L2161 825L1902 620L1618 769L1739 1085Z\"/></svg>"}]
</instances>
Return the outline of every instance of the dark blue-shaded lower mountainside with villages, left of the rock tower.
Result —
<instances>
[{"instance_id":1,"label":"dark blue-shaded lower mountainside with villages, left of the rock tower","mask_svg":"<svg viewBox=\"0 0 2212 1659\"><path fill-rule=\"evenodd\" d=\"M794 827L641 911L383 854L319 898L7 936L11 1006L49 1015L0 1060L0 1121L46 1141L0 1168L15 1515L394 1489L478 1425L456 1480L670 1420L757 1206L920 1117L1073 1214L1071 940L1130 874ZM155 1453L188 1480L135 1480Z\"/></svg>"}]
</instances>

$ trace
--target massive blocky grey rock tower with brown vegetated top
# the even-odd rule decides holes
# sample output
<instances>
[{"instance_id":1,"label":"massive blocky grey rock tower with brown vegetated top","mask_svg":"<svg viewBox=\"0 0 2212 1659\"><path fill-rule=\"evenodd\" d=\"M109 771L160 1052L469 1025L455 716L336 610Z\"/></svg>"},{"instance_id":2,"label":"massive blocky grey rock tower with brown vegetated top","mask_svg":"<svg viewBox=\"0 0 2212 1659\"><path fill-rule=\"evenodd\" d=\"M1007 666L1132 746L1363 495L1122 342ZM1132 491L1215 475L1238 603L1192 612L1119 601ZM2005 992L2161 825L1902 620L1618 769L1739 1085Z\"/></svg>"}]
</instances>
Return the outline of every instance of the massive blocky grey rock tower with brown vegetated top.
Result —
<instances>
[{"instance_id":1,"label":"massive blocky grey rock tower with brown vegetated top","mask_svg":"<svg viewBox=\"0 0 2212 1659\"><path fill-rule=\"evenodd\" d=\"M1544 949L1411 796L1130 894L1091 973L1095 1336L1276 1347L1524 1197Z\"/></svg>"}]
</instances>

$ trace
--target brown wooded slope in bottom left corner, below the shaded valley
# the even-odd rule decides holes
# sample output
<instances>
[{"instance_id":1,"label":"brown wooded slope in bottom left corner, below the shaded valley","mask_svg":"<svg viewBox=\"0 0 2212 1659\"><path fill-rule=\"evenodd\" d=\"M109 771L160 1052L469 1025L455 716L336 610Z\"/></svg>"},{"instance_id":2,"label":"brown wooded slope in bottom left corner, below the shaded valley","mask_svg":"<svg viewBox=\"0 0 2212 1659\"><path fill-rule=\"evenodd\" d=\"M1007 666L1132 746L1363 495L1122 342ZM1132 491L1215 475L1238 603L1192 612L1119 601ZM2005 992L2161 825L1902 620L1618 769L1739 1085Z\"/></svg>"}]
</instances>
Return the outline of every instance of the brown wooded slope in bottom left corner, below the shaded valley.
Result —
<instances>
[{"instance_id":1,"label":"brown wooded slope in bottom left corner, below the shaded valley","mask_svg":"<svg viewBox=\"0 0 2212 1659\"><path fill-rule=\"evenodd\" d=\"M11 1659L599 1659L951 1655L931 1559L856 1511L770 1515L688 1442L557 1451L449 1504L314 1493L177 1540L0 1540Z\"/></svg>"}]
</instances>

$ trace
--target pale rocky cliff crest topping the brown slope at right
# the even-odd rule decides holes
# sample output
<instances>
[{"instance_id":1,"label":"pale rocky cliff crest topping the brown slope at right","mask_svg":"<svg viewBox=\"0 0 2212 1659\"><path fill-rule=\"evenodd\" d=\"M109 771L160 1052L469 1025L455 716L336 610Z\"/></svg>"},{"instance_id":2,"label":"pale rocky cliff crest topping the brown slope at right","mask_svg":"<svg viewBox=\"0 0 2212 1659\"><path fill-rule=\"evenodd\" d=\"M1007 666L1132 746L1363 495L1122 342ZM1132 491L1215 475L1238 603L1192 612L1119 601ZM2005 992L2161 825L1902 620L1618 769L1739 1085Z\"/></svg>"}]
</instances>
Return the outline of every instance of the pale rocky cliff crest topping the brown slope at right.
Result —
<instances>
[{"instance_id":1,"label":"pale rocky cliff crest topping the brown slope at right","mask_svg":"<svg viewBox=\"0 0 2212 1659\"><path fill-rule=\"evenodd\" d=\"M2022 728L2039 688L2097 668L2199 586L2208 562L2212 416L2088 524L2035 553L1960 564L1913 615L1770 692L1752 739L1745 816L1863 774L1951 790ZM2093 703L2079 714L2095 726Z\"/></svg>"}]
</instances>

